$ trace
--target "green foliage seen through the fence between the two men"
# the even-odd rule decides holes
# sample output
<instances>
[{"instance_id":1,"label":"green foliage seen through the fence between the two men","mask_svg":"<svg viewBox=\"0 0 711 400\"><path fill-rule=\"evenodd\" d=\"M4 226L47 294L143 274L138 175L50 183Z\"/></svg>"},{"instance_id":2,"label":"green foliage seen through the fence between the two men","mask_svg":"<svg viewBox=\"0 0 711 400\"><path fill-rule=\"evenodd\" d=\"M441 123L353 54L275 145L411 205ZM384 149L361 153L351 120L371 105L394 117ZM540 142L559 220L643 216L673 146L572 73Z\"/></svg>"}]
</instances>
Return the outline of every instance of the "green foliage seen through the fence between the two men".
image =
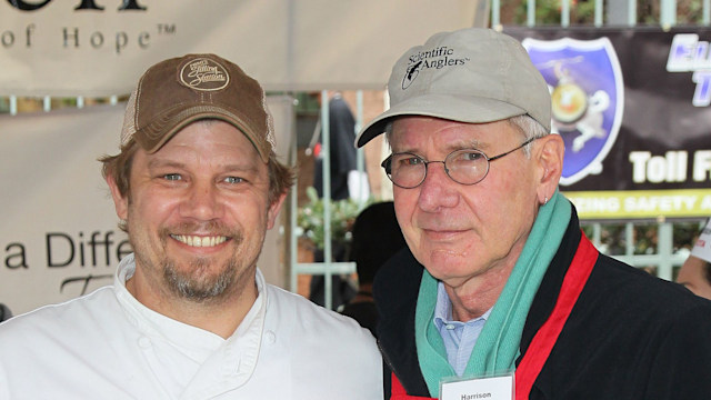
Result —
<instances>
[{"instance_id":1,"label":"green foliage seen through the fence between the two men","mask_svg":"<svg viewBox=\"0 0 711 400\"><path fill-rule=\"evenodd\" d=\"M319 198L313 187L307 188L309 202L299 209L297 224L302 230L302 237L309 239L313 244L322 250L324 239L324 201ZM351 240L351 229L353 221L362 208L372 202L369 199L360 204L356 200L330 200L331 209L331 240L339 243L349 243Z\"/></svg>"}]
</instances>

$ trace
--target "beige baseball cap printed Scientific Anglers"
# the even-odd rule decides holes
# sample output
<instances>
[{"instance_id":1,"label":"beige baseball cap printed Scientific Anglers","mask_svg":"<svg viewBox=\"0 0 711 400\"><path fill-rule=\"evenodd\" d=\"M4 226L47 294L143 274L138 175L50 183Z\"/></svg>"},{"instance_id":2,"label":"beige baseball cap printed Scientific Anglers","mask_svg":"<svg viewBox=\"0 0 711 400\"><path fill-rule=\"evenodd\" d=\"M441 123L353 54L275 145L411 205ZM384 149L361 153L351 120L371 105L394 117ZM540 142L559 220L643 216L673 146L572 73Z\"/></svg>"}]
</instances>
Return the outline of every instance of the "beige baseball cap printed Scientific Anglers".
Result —
<instances>
[{"instance_id":1,"label":"beige baseball cap printed Scientific Anglers","mask_svg":"<svg viewBox=\"0 0 711 400\"><path fill-rule=\"evenodd\" d=\"M398 116L429 116L482 123L529 114L549 132L551 96L518 40L491 29L432 36L408 50L388 81L390 109L356 138L361 147Z\"/></svg>"}]
</instances>

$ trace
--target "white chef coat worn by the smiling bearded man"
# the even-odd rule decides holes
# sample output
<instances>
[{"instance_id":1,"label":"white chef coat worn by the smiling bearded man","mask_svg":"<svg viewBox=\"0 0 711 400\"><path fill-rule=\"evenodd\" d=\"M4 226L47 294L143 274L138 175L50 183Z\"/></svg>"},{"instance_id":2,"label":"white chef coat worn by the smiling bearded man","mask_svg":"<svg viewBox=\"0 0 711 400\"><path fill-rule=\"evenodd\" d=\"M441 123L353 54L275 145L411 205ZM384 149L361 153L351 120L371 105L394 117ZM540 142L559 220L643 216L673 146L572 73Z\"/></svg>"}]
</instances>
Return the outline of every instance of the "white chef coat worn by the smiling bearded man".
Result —
<instances>
[{"instance_id":1,"label":"white chef coat worn by the smiling bearded man","mask_svg":"<svg viewBox=\"0 0 711 400\"><path fill-rule=\"evenodd\" d=\"M126 280L0 324L0 399L382 399L381 358L358 323L264 282L223 339L162 316Z\"/></svg>"}]
</instances>

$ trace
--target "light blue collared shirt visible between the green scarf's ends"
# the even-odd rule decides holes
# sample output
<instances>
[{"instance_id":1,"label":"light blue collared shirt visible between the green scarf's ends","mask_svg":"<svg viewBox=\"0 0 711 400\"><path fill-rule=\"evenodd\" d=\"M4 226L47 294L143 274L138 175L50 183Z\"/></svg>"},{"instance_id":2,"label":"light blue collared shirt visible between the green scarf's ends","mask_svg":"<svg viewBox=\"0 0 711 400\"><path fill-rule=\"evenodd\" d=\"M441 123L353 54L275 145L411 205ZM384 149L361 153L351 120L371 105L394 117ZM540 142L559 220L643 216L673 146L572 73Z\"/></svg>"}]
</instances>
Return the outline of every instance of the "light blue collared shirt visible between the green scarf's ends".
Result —
<instances>
[{"instance_id":1,"label":"light blue collared shirt visible between the green scarf's ends","mask_svg":"<svg viewBox=\"0 0 711 400\"><path fill-rule=\"evenodd\" d=\"M439 330L444 348L447 349L447 360L461 377L467 369L469 357L474 349L477 339L484 328L487 319L491 314L491 309L483 316L467 322L452 320L452 301L444 290L444 283L437 286L437 306L434 307L434 326Z\"/></svg>"}]
</instances>

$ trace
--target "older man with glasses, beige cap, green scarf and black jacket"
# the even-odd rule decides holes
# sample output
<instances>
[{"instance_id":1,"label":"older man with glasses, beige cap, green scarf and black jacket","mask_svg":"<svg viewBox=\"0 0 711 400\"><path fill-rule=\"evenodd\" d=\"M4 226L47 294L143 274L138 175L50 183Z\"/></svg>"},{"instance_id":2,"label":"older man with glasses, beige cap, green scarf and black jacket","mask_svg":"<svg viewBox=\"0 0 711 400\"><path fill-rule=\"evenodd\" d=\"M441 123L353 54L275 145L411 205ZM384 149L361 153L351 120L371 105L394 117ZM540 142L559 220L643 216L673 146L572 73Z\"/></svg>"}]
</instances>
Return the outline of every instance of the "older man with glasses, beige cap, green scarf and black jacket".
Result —
<instances>
[{"instance_id":1,"label":"older man with glasses, beige cap, green scarf and black jacket","mask_svg":"<svg viewBox=\"0 0 711 400\"><path fill-rule=\"evenodd\" d=\"M431 37L385 132L409 249L374 282L392 399L709 399L711 306L600 254L559 191L551 97L514 39Z\"/></svg>"}]
</instances>

